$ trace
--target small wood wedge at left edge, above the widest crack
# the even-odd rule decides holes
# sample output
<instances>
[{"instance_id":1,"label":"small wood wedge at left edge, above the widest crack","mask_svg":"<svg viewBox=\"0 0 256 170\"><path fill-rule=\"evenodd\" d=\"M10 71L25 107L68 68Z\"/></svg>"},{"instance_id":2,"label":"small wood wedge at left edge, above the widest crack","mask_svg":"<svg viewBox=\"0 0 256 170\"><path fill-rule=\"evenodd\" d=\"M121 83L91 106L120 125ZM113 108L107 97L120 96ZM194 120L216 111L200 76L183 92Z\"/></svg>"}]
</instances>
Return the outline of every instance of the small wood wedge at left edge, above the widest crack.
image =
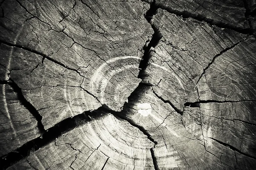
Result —
<instances>
[{"instance_id":1,"label":"small wood wedge at left edge, above the widest crack","mask_svg":"<svg viewBox=\"0 0 256 170\"><path fill-rule=\"evenodd\" d=\"M0 85L0 156L40 136L37 120L18 99L12 87Z\"/></svg>"}]
</instances>

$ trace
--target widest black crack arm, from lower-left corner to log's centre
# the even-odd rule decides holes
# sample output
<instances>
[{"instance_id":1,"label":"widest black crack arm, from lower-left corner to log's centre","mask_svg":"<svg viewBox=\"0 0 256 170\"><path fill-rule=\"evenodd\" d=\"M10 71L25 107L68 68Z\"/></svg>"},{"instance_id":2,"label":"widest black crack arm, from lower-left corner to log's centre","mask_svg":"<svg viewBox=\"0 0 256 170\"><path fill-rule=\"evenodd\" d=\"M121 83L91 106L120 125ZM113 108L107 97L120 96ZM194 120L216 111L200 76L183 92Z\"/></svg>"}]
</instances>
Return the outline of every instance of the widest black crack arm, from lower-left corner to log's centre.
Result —
<instances>
[{"instance_id":1,"label":"widest black crack arm, from lower-left corner to log's centre","mask_svg":"<svg viewBox=\"0 0 256 170\"><path fill-rule=\"evenodd\" d=\"M0 170L4 170L12 164L29 156L32 152L35 152L39 148L54 141L61 136L61 134L74 129L75 127L84 125L84 123L90 122L92 119L99 119L106 116L105 112L102 112L102 110L104 110L104 108L100 107L95 111L86 111L73 118L67 118L57 123L55 126L49 128L42 136L33 139L16 150L2 156L0 158Z\"/></svg>"}]
</instances>

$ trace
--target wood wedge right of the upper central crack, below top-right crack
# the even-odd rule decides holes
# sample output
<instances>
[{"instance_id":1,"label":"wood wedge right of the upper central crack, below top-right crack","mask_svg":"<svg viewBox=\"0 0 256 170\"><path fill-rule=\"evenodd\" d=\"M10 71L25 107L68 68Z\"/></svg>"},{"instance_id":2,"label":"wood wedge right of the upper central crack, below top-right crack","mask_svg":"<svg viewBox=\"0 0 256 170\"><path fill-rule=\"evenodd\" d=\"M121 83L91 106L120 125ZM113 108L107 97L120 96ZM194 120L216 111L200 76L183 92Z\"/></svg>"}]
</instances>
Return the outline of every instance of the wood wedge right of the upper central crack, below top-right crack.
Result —
<instances>
[{"instance_id":1,"label":"wood wedge right of the upper central crack, below top-right crack","mask_svg":"<svg viewBox=\"0 0 256 170\"><path fill-rule=\"evenodd\" d=\"M230 29L211 27L191 18L183 20L162 9L157 10L151 23L163 37L151 51L146 69L149 77L144 81L154 85L155 93L172 102L180 112L185 102L198 101L197 87L202 85L197 82L208 65L220 54L247 40L246 35ZM247 46L244 48L246 52ZM248 51L253 53L252 48Z\"/></svg>"}]
</instances>

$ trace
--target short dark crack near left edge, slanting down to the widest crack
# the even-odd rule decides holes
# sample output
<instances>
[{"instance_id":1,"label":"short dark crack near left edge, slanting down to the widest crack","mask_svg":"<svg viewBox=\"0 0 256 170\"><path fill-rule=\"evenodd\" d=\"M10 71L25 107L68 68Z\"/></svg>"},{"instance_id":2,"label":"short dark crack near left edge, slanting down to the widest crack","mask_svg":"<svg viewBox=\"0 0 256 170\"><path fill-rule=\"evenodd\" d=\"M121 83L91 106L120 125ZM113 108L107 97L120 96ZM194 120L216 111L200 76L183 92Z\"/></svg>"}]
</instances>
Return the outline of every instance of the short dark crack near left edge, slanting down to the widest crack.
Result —
<instances>
[{"instance_id":1,"label":"short dark crack near left edge, slanting down to the widest crack","mask_svg":"<svg viewBox=\"0 0 256 170\"><path fill-rule=\"evenodd\" d=\"M45 133L44 125L42 124L42 116L38 113L38 111L35 109L35 107L27 101L27 99L23 96L21 88L12 80L9 79L10 81L8 84L12 87L13 91L17 94L18 99L20 103L35 117L37 120L37 125L39 132L41 134Z\"/></svg>"}]
</instances>

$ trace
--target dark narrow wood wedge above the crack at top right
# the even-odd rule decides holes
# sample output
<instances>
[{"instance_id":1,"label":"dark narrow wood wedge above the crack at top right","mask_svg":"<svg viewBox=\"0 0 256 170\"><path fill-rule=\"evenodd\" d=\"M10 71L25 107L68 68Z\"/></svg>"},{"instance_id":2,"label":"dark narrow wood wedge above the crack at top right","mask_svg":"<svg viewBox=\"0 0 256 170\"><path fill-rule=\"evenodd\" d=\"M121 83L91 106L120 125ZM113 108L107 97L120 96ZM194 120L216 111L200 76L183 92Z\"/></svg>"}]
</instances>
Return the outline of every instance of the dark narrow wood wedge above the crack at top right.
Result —
<instances>
[{"instance_id":1,"label":"dark narrow wood wedge above the crack at top right","mask_svg":"<svg viewBox=\"0 0 256 170\"><path fill-rule=\"evenodd\" d=\"M255 4L251 0L251 5ZM156 0L156 5L186 17L196 17L237 29L249 28L243 0Z\"/></svg>"}]
</instances>

